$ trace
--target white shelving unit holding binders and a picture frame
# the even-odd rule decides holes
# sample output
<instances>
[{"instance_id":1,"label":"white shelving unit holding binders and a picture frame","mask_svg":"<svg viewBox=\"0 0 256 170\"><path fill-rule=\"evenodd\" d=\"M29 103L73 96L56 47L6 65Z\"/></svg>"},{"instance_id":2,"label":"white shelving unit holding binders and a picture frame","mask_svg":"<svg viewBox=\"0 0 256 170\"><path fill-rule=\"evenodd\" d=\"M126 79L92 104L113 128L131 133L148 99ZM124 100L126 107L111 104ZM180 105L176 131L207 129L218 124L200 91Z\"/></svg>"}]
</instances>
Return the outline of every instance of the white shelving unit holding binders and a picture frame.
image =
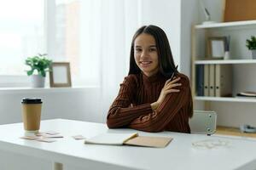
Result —
<instances>
[{"instance_id":1,"label":"white shelving unit holding binders and a picture frame","mask_svg":"<svg viewBox=\"0 0 256 170\"><path fill-rule=\"evenodd\" d=\"M230 35L231 37L231 59L207 59L207 37L222 37L228 35ZM252 79L255 79L252 81L249 76L245 76L248 72L250 72L246 69L252 70L253 67L256 69L256 59L251 58L251 54L245 46L246 39L252 35L256 35L256 20L212 23L209 25L194 26L194 28L192 29L192 92L195 102L206 101L206 105L208 105L207 102L212 101L256 103L256 98L254 99L236 97L236 93L239 93L241 91L249 91L247 88L249 88L251 91L256 91L256 78L251 77ZM233 97L196 96L195 66L215 64L233 65L233 77L235 80L233 83ZM256 74L256 71L254 74Z\"/></svg>"}]
</instances>

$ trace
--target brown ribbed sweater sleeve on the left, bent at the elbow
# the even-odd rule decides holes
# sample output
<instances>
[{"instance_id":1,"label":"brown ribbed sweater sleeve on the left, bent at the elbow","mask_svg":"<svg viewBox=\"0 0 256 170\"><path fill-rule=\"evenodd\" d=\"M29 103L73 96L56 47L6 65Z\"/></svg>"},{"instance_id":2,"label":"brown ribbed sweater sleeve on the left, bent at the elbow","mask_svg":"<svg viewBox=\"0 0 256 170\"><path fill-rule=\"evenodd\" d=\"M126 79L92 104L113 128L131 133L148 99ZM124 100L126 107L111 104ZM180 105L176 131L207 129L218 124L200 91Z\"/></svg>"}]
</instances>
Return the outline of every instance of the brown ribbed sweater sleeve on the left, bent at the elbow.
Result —
<instances>
[{"instance_id":1,"label":"brown ribbed sweater sleeve on the left, bent at the elbow","mask_svg":"<svg viewBox=\"0 0 256 170\"><path fill-rule=\"evenodd\" d=\"M107 125L109 128L127 127L137 117L152 112L150 104L131 106L136 92L136 76L125 77L124 82L120 84L119 94L108 111Z\"/></svg>"}]
</instances>

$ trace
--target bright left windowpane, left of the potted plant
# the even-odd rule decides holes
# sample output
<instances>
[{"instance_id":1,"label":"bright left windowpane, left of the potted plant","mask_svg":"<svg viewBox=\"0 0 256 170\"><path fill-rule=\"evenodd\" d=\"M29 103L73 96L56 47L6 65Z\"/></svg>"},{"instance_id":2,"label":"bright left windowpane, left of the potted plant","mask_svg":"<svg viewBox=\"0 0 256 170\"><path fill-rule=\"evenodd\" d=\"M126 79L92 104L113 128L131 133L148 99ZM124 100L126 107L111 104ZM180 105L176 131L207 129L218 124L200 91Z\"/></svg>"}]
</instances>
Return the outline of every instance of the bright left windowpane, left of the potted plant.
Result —
<instances>
[{"instance_id":1,"label":"bright left windowpane, left of the potted plant","mask_svg":"<svg viewBox=\"0 0 256 170\"><path fill-rule=\"evenodd\" d=\"M0 3L0 75L26 75L26 57L45 52L44 0Z\"/></svg>"}]
</instances>

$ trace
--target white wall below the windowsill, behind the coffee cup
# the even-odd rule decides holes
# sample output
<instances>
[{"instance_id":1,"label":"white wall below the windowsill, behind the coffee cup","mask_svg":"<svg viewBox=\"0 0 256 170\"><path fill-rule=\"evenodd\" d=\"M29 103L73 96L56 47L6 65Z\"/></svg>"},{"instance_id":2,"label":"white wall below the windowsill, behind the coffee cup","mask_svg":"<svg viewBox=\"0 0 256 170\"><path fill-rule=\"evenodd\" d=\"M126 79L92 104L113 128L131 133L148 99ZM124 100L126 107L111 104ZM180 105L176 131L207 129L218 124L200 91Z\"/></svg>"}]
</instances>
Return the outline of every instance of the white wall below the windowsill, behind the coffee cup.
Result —
<instances>
[{"instance_id":1,"label":"white wall below the windowsill, behind the coffee cup","mask_svg":"<svg viewBox=\"0 0 256 170\"><path fill-rule=\"evenodd\" d=\"M89 122L103 122L98 107L98 88L45 88L45 89L6 89L0 90L0 124L22 122L22 98L43 99L42 119L67 118Z\"/></svg>"}]
</instances>

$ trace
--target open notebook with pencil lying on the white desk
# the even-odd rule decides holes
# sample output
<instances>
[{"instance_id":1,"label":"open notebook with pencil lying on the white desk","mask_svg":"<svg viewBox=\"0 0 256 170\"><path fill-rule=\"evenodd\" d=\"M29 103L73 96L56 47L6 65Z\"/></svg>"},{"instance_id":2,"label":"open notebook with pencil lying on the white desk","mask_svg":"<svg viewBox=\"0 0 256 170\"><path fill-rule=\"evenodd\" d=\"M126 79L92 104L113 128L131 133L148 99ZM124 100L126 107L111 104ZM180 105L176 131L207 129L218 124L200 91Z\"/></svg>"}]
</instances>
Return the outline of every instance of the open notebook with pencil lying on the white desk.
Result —
<instances>
[{"instance_id":1,"label":"open notebook with pencil lying on the white desk","mask_svg":"<svg viewBox=\"0 0 256 170\"><path fill-rule=\"evenodd\" d=\"M91 139L85 139L84 144L137 145L147 147L166 147L172 141L170 137L139 136L138 133L102 133Z\"/></svg>"}]
</instances>

